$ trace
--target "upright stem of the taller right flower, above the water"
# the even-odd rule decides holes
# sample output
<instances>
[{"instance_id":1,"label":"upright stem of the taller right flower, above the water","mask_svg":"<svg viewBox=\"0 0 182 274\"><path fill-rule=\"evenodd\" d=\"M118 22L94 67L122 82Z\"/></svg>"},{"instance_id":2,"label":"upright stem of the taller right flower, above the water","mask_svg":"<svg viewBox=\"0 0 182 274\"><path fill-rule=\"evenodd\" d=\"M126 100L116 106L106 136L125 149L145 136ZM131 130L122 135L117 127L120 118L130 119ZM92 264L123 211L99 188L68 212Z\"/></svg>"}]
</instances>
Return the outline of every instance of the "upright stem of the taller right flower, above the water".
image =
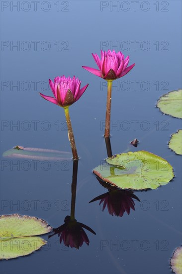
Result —
<instances>
[{"instance_id":1,"label":"upright stem of the taller right flower, above the water","mask_svg":"<svg viewBox=\"0 0 182 274\"><path fill-rule=\"evenodd\" d=\"M110 112L111 112L111 92L112 92L112 81L107 80L107 105L105 115L105 134L104 137L110 136Z\"/></svg>"}]
</instances>

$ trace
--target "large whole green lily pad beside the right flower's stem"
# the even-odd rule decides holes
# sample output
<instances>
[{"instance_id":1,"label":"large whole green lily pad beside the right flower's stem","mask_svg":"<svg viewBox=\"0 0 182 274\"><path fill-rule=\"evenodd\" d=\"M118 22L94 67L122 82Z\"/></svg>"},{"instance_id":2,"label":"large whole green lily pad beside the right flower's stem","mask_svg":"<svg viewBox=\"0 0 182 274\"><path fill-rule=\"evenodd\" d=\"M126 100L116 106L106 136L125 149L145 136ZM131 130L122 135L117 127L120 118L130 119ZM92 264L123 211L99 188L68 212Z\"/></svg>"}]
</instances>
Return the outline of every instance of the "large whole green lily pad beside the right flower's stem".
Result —
<instances>
[{"instance_id":1,"label":"large whole green lily pad beside the right flower's stem","mask_svg":"<svg viewBox=\"0 0 182 274\"><path fill-rule=\"evenodd\" d=\"M174 177L167 160L144 150L117 154L106 162L94 168L93 173L121 189L156 189Z\"/></svg>"}]
</instances>

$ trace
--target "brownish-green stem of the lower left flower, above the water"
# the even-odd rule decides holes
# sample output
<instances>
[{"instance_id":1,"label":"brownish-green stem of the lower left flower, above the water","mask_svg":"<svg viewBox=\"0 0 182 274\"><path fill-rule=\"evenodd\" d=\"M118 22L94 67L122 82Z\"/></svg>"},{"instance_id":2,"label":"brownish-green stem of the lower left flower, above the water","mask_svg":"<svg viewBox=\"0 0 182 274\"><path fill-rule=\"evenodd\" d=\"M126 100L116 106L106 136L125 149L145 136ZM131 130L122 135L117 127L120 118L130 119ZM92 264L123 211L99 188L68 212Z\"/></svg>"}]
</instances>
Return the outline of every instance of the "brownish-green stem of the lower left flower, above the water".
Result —
<instances>
[{"instance_id":1,"label":"brownish-green stem of the lower left flower, above the water","mask_svg":"<svg viewBox=\"0 0 182 274\"><path fill-rule=\"evenodd\" d=\"M75 138L73 135L73 129L72 129L72 124L71 124L70 115L69 115L69 107L65 107L64 110L65 110L66 122L67 122L67 126L68 126L68 138L69 138L71 148L72 148L73 159L78 160L79 156L77 153Z\"/></svg>"}]
</instances>

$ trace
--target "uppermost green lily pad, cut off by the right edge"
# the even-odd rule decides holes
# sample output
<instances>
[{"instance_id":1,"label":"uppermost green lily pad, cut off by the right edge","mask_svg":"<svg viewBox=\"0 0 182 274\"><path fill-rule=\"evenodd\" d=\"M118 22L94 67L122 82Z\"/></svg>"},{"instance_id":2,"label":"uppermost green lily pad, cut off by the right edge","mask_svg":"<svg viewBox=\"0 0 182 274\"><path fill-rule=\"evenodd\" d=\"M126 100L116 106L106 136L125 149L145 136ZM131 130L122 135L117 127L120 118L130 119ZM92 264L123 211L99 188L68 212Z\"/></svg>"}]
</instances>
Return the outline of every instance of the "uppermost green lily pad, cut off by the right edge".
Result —
<instances>
[{"instance_id":1,"label":"uppermost green lily pad, cut off by the right edge","mask_svg":"<svg viewBox=\"0 0 182 274\"><path fill-rule=\"evenodd\" d=\"M165 114L182 118L182 89L171 91L160 97L157 107Z\"/></svg>"}]
</instances>

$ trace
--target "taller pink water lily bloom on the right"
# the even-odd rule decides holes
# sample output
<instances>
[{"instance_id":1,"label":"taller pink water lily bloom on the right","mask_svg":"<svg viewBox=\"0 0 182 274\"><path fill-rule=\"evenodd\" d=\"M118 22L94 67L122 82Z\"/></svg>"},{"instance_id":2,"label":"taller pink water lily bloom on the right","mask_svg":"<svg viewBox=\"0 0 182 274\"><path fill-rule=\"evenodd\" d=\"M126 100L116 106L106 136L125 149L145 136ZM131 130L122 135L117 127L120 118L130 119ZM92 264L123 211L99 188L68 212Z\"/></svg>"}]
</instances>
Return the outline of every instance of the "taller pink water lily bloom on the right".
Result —
<instances>
[{"instance_id":1,"label":"taller pink water lily bloom on the right","mask_svg":"<svg viewBox=\"0 0 182 274\"><path fill-rule=\"evenodd\" d=\"M124 59L124 54L121 51L116 53L115 50L111 51L109 49L107 52L101 50L101 60L96 53L92 53L92 56L99 69L86 66L83 66L83 68L105 80L120 78L127 74L135 65L134 63L127 67L129 56Z\"/></svg>"}]
</instances>

